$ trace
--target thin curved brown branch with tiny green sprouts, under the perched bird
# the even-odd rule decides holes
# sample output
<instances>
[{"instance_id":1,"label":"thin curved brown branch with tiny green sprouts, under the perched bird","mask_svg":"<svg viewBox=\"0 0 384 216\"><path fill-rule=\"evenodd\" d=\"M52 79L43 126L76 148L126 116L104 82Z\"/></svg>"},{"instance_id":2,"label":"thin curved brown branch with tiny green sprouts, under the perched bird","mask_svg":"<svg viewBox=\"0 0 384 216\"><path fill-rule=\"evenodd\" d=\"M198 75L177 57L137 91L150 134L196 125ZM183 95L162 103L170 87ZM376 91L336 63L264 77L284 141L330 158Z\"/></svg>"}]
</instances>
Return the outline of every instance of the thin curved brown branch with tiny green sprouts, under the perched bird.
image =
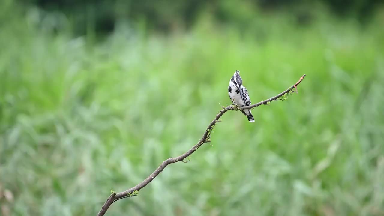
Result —
<instances>
[{"instance_id":1,"label":"thin curved brown branch with tiny green sprouts, under the perched bird","mask_svg":"<svg viewBox=\"0 0 384 216\"><path fill-rule=\"evenodd\" d=\"M297 93L296 86L300 84L301 80L303 80L304 77L305 77L305 75L301 76L300 80L297 81L295 85L291 86L290 88L281 92L280 94L274 96L273 98L269 98L267 100L260 101L259 103L255 103L255 104L250 105L250 106L242 106L238 109L240 109L240 110L250 109L250 108L254 108L254 107L266 104L270 101L277 100L278 98L285 95L286 93L294 92L292 90L293 88L296 89L296 93ZM220 112L216 115L215 119L212 120L211 123L208 125L207 130L205 130L202 138L190 150L188 150L187 152L185 152L184 154L182 154L176 158L168 158L167 160L163 161L163 163L161 163L160 166L150 176L148 176L144 181L142 181L140 184L137 184L133 188L128 189L128 190L123 191L123 192L120 192L120 193L116 193L113 191L111 196L109 196L107 201L104 203L103 207L101 208L101 210L99 211L97 216L103 216L106 213L106 211L108 210L109 206L111 206L111 204L114 203L115 201L117 201L118 199L131 197L132 194L138 194L137 191L139 191L140 189L147 186L147 184L149 184L154 178L156 178L156 176L159 175L164 170L164 168L166 168L166 166L168 166L169 164L176 163L178 161L183 161L189 155L194 153L198 148L200 148L200 146L202 146L204 143L209 143L210 142L210 135L211 135L212 130L214 129L214 126L216 125L217 122L221 122L220 117L225 112L227 112L228 110L233 110L233 106L223 107L223 110L220 110Z\"/></svg>"}]
</instances>

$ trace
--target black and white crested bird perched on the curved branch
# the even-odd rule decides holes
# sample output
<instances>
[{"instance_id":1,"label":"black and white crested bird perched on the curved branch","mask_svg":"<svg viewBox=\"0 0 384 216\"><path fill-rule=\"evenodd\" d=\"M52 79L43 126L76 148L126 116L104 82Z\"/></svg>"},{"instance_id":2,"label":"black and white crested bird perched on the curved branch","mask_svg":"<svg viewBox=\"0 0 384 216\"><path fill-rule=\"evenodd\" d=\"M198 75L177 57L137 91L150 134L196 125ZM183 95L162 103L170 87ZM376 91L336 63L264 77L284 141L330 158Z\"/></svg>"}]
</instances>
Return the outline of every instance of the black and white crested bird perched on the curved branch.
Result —
<instances>
[{"instance_id":1,"label":"black and white crested bird perched on the curved branch","mask_svg":"<svg viewBox=\"0 0 384 216\"><path fill-rule=\"evenodd\" d=\"M251 105L251 99L249 98L247 89L243 86L243 80L239 75L240 71L236 71L229 81L228 94L232 103L238 106ZM241 110L244 115L247 116L249 122L254 122L255 119L251 113L251 110Z\"/></svg>"}]
</instances>

